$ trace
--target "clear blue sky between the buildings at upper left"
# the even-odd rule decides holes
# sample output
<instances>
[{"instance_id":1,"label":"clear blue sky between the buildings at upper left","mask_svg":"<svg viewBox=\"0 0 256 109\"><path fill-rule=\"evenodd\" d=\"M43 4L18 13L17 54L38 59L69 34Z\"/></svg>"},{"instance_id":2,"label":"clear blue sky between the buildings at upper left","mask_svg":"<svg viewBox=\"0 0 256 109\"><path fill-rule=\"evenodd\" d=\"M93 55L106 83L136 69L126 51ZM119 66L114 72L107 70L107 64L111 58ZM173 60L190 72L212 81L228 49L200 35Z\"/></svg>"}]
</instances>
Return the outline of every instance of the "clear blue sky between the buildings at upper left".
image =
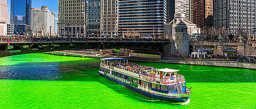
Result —
<instances>
[{"instance_id":1,"label":"clear blue sky between the buildings at upper left","mask_svg":"<svg viewBox=\"0 0 256 109\"><path fill-rule=\"evenodd\" d=\"M42 6L47 6L49 10L55 13L55 31L57 32L57 20L58 20L58 0L31 0L31 8L41 8ZM10 9L11 0L7 0L7 5L9 8L9 20L10 20Z\"/></svg>"}]
</instances>

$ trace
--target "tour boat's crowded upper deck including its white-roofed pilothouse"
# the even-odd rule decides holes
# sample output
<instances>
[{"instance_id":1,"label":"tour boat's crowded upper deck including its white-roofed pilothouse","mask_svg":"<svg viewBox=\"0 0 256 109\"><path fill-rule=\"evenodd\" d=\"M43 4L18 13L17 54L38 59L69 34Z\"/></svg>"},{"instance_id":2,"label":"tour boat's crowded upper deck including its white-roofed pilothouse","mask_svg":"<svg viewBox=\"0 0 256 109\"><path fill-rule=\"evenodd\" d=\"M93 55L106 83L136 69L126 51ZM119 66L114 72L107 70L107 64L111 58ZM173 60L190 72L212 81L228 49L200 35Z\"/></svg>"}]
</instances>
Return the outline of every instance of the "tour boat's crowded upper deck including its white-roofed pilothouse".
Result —
<instances>
[{"instance_id":1,"label":"tour boat's crowded upper deck including its white-roofed pilothouse","mask_svg":"<svg viewBox=\"0 0 256 109\"><path fill-rule=\"evenodd\" d=\"M143 66L136 63L127 62L123 58L103 58L101 65L107 68L115 67L125 71L141 74L142 80L149 80L163 84L177 83L185 81L184 76L177 74L179 70L174 69L156 69L152 66Z\"/></svg>"}]
</instances>

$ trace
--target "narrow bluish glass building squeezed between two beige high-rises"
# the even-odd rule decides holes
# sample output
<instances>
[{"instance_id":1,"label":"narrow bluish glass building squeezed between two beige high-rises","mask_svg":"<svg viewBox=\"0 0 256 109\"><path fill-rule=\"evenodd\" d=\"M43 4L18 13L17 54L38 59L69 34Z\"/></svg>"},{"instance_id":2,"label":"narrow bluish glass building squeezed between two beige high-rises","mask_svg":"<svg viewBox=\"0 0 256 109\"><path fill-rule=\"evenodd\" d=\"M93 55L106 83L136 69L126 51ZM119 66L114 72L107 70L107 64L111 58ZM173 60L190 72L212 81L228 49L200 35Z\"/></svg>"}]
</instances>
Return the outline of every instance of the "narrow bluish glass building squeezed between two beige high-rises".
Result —
<instances>
[{"instance_id":1,"label":"narrow bluish glass building squeezed between two beige high-rises","mask_svg":"<svg viewBox=\"0 0 256 109\"><path fill-rule=\"evenodd\" d=\"M89 0L87 4L88 18L86 34L89 37L100 36L100 0ZM98 35L98 36L97 36Z\"/></svg>"}]
</instances>

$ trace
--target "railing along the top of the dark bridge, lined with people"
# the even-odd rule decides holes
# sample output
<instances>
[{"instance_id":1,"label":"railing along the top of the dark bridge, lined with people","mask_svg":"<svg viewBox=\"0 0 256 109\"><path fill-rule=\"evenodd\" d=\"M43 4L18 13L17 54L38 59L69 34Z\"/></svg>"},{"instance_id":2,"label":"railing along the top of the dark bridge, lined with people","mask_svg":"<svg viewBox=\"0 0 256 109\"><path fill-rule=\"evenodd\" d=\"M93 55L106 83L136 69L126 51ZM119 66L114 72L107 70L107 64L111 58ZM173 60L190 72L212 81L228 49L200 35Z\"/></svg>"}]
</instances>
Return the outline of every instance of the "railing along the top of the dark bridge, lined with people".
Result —
<instances>
[{"instance_id":1,"label":"railing along the top of the dark bridge, lined with people","mask_svg":"<svg viewBox=\"0 0 256 109\"><path fill-rule=\"evenodd\" d=\"M0 43L13 42L170 42L170 39L148 39L148 38L0 38Z\"/></svg>"}]
</instances>

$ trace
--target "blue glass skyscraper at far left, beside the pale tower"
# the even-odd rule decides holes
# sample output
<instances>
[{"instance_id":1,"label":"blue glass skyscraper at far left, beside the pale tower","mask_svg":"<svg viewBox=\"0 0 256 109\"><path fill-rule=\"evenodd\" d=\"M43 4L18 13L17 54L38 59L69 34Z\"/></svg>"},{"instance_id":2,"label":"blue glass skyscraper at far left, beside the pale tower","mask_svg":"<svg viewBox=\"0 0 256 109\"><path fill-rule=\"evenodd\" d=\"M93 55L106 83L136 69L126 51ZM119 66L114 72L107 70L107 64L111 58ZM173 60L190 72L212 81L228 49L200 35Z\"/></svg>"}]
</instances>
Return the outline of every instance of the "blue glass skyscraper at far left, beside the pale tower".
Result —
<instances>
[{"instance_id":1,"label":"blue glass skyscraper at far left, beside the pale tower","mask_svg":"<svg viewBox=\"0 0 256 109\"><path fill-rule=\"evenodd\" d=\"M30 8L31 0L11 0L11 23L29 26Z\"/></svg>"}]
</instances>

